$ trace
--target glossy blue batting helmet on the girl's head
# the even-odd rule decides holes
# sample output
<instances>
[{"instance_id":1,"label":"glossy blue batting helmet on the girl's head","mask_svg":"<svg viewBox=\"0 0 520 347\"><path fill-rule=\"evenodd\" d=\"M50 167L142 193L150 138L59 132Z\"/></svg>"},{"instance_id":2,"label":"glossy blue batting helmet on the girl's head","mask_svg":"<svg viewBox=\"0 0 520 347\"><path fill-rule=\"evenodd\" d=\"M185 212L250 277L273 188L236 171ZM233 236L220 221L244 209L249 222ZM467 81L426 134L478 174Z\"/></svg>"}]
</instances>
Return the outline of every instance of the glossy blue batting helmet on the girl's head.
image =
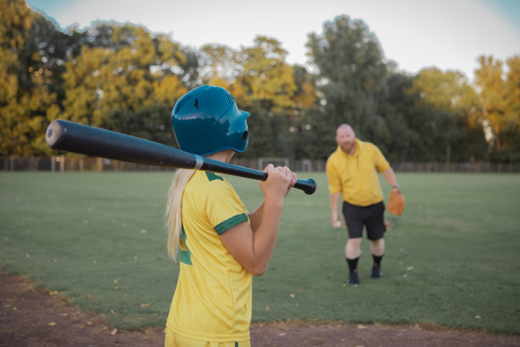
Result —
<instances>
[{"instance_id":1,"label":"glossy blue batting helmet on the girl's head","mask_svg":"<svg viewBox=\"0 0 520 347\"><path fill-rule=\"evenodd\" d=\"M207 156L232 149L243 152L249 143L249 112L240 111L226 89L203 85L177 100L172 126L181 150Z\"/></svg>"}]
</instances>

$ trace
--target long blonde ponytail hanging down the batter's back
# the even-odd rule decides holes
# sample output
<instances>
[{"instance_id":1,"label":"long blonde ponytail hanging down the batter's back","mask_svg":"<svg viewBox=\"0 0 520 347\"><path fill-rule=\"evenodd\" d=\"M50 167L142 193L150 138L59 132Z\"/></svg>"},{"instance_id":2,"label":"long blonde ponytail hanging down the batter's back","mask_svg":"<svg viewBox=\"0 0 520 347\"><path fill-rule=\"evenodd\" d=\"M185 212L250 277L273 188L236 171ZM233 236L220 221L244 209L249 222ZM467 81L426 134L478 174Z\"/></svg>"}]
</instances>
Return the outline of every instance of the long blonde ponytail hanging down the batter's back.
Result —
<instances>
[{"instance_id":1,"label":"long blonde ponytail hanging down the batter's back","mask_svg":"<svg viewBox=\"0 0 520 347\"><path fill-rule=\"evenodd\" d=\"M178 169L168 190L165 217L168 234L168 256L177 261L177 251L180 243L180 231L183 226L181 210L183 207L183 193L186 184L195 173L194 170Z\"/></svg>"}]
</instances>

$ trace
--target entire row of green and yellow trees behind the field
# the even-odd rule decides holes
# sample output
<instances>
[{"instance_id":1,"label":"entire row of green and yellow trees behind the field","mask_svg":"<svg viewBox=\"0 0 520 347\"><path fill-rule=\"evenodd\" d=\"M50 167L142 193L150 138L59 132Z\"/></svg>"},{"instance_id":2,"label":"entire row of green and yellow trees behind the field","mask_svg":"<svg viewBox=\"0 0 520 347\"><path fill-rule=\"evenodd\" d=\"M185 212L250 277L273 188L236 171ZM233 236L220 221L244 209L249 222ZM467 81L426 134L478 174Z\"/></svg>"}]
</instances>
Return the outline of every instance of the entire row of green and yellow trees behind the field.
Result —
<instances>
[{"instance_id":1,"label":"entire row of green and yellow trees behind the field","mask_svg":"<svg viewBox=\"0 0 520 347\"><path fill-rule=\"evenodd\" d=\"M520 56L460 71L399 71L362 20L309 33L313 71L276 38L200 48L129 23L60 29L23 0L0 0L0 155L50 155L45 128L68 119L176 147L177 99L222 86L248 118L242 157L326 159L351 124L391 161L520 161Z\"/></svg>"}]
</instances>

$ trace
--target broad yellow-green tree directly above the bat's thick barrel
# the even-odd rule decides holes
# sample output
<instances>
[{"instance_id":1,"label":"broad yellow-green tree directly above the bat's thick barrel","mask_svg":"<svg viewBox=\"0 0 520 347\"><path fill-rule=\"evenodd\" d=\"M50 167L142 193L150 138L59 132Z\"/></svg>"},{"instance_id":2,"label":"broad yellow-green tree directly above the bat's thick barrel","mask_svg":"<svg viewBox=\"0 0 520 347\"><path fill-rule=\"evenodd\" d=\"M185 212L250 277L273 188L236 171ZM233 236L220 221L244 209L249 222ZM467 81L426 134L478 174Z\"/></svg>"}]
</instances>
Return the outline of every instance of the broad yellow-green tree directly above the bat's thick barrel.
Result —
<instances>
[{"instance_id":1,"label":"broad yellow-green tree directly above the bat's thick barrel","mask_svg":"<svg viewBox=\"0 0 520 347\"><path fill-rule=\"evenodd\" d=\"M171 138L171 110L192 84L196 55L165 35L115 22L95 23L81 42L81 54L65 63L62 118L148 139Z\"/></svg>"}]
</instances>

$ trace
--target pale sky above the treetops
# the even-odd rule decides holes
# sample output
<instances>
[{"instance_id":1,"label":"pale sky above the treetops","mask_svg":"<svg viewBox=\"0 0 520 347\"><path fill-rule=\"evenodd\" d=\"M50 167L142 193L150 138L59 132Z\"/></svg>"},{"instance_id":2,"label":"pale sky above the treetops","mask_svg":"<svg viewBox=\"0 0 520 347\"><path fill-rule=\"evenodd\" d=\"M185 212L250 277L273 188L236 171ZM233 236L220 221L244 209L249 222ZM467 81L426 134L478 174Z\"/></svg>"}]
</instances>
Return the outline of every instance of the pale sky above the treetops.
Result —
<instances>
[{"instance_id":1,"label":"pale sky above the treetops","mask_svg":"<svg viewBox=\"0 0 520 347\"><path fill-rule=\"evenodd\" d=\"M287 62L306 65L309 33L346 15L363 20L387 59L418 73L460 70L470 80L480 55L520 55L520 0L28 0L61 28L95 20L140 24L183 46L250 47L257 35L276 38Z\"/></svg>"}]
</instances>

